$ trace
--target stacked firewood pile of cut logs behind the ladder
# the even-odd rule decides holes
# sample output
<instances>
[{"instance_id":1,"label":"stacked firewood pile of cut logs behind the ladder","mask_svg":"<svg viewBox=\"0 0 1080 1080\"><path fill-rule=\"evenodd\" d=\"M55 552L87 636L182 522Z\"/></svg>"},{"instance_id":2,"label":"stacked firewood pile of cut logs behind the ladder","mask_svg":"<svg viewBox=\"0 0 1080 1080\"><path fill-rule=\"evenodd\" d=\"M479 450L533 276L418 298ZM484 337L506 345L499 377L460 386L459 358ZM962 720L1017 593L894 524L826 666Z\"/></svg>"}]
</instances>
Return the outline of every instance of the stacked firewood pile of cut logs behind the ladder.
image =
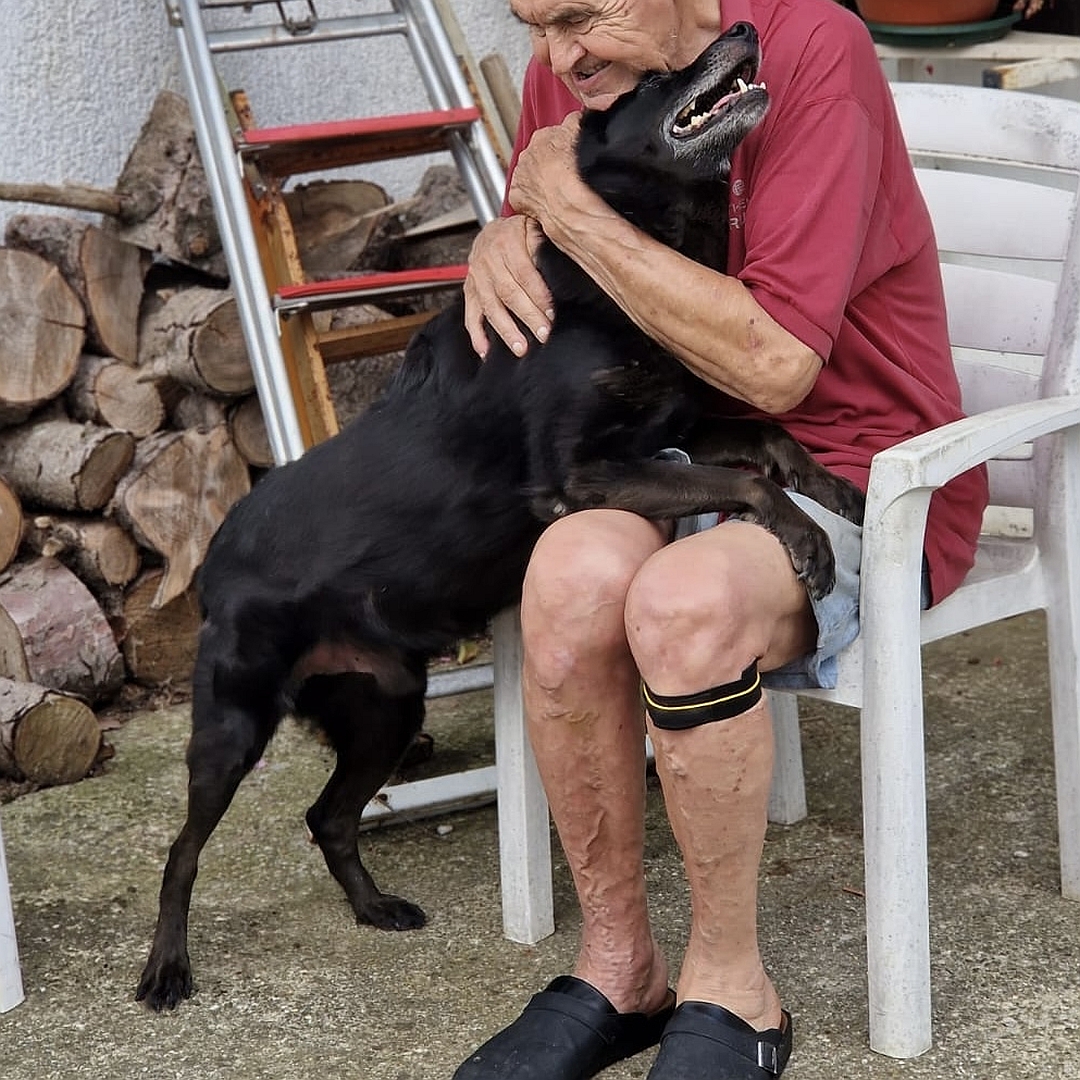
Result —
<instances>
[{"instance_id":1,"label":"stacked firewood pile of cut logs behind the ladder","mask_svg":"<svg viewBox=\"0 0 1080 1080\"><path fill-rule=\"evenodd\" d=\"M24 214L0 246L0 775L40 784L91 770L95 710L126 683L187 683L194 576L271 464L181 98L159 97L105 194L100 224ZM91 208L81 191L6 197ZM364 181L291 198L314 273L415 212ZM392 363L369 365L374 388L340 368L348 418Z\"/></svg>"}]
</instances>

